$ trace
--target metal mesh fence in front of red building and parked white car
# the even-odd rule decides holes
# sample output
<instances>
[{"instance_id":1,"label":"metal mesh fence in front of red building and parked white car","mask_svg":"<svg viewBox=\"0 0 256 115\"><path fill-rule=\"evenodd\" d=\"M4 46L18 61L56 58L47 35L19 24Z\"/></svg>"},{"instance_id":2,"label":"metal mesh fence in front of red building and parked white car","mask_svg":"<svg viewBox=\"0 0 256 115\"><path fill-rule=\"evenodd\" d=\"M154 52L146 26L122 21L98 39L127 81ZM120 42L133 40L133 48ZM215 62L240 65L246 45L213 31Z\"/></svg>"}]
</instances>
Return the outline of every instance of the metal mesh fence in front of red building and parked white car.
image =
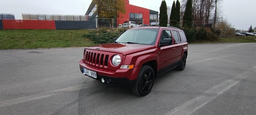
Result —
<instances>
[{"instance_id":1,"label":"metal mesh fence in front of red building and parked white car","mask_svg":"<svg viewBox=\"0 0 256 115\"><path fill-rule=\"evenodd\" d=\"M125 19L125 18L97 18L96 24L97 28L123 28L127 27L125 23L132 21L135 22L137 25L145 24L146 26L159 26L159 20L156 19ZM180 24L180 26L183 26L183 23L185 23L185 20L181 20L180 22L177 22L176 20L167 20L168 24L166 26L175 24ZM130 24L130 23L129 23ZM145 26L143 25L143 26ZM194 27L205 27L205 21L192 21L191 25ZM211 25L207 25L211 26ZM131 27L131 26L128 26ZM133 26L134 27L134 26ZM135 26L136 27L136 26Z\"/></svg>"}]
</instances>

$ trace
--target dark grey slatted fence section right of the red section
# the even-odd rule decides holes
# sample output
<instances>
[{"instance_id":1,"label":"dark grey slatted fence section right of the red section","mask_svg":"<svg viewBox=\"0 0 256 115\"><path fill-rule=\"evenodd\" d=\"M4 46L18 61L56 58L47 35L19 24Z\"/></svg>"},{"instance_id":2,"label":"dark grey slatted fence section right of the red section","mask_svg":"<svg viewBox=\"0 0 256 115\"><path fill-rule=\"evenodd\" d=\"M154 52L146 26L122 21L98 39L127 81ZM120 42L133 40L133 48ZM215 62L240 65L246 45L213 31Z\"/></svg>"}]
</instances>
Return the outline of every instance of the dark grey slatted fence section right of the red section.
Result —
<instances>
[{"instance_id":1,"label":"dark grey slatted fence section right of the red section","mask_svg":"<svg viewBox=\"0 0 256 115\"><path fill-rule=\"evenodd\" d=\"M55 20L56 29L96 29L95 21Z\"/></svg>"}]
</instances>

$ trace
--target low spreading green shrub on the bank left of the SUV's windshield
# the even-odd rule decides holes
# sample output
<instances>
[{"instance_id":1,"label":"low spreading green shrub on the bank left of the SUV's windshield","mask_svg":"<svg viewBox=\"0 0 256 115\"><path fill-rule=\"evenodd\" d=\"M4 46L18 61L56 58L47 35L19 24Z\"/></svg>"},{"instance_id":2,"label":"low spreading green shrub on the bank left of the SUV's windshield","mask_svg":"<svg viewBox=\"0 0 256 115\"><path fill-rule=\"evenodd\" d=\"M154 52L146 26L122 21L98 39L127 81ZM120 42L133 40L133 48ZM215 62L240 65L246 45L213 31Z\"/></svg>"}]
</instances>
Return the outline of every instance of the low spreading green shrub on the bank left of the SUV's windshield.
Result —
<instances>
[{"instance_id":1,"label":"low spreading green shrub on the bank left of the SUV's windshield","mask_svg":"<svg viewBox=\"0 0 256 115\"><path fill-rule=\"evenodd\" d=\"M124 30L124 28L98 28L96 30L91 30L87 34L84 34L84 37L92 40L97 44L111 43L114 40L113 38L118 37Z\"/></svg>"}]
</instances>

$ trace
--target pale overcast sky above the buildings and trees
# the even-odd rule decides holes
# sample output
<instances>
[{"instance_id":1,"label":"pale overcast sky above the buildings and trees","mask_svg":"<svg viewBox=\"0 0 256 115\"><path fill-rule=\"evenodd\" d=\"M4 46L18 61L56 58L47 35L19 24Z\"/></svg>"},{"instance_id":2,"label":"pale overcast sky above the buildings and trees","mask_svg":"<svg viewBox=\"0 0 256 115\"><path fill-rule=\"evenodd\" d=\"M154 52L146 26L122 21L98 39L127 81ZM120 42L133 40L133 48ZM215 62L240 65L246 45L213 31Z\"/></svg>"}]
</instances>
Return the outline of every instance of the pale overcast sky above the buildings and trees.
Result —
<instances>
[{"instance_id":1,"label":"pale overcast sky above the buildings and trees","mask_svg":"<svg viewBox=\"0 0 256 115\"><path fill-rule=\"evenodd\" d=\"M1 0L0 13L14 14L16 19L22 19L22 13L84 15L91 2L92 0ZM161 2L162 0L130 0L132 5L154 11L159 11ZM173 0L166 0L167 5L172 6L172 3ZM248 30L250 25L256 26L256 0L223 0L221 11L223 18L227 18L236 29Z\"/></svg>"}]
</instances>

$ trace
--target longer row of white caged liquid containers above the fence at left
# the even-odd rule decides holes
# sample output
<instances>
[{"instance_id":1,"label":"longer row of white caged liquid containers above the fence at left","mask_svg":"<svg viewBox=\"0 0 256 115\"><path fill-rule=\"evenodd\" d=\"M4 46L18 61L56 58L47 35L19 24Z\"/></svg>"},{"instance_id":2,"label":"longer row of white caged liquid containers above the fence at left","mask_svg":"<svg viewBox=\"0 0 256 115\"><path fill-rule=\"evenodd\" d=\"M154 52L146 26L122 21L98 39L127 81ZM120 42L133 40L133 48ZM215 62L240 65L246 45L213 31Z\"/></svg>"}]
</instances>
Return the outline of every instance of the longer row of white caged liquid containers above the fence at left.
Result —
<instances>
[{"instance_id":1,"label":"longer row of white caged liquid containers above the fence at left","mask_svg":"<svg viewBox=\"0 0 256 115\"><path fill-rule=\"evenodd\" d=\"M53 14L22 14L23 20L65 20L65 21L85 21L84 15L53 15Z\"/></svg>"}]
</instances>

